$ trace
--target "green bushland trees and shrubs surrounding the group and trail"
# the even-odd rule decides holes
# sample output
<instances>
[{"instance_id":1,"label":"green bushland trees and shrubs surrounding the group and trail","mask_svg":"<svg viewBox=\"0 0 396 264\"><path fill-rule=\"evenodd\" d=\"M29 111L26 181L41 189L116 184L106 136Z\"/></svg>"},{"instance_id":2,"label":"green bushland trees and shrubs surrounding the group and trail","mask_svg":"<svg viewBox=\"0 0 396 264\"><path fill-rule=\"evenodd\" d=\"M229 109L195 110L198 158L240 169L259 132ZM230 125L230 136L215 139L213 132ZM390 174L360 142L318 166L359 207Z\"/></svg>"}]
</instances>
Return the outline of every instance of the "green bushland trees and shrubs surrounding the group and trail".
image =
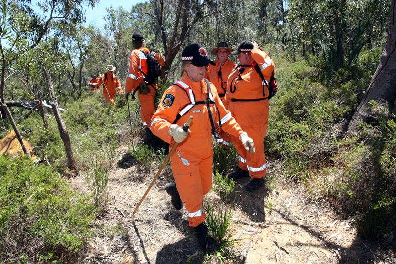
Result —
<instances>
[{"instance_id":1,"label":"green bushland trees and shrubs surrounding the group and trail","mask_svg":"<svg viewBox=\"0 0 396 264\"><path fill-rule=\"evenodd\" d=\"M97 67L103 72L112 63L124 87L135 30L167 59L158 100L179 76L179 51L185 45L198 42L211 49L218 41L235 46L241 39L256 40L274 59L279 84L270 101L268 159L285 163L280 174L305 186L307 201L326 199L342 218L353 219L363 238L395 232L395 97L370 102L368 120L357 134L346 134L391 32L394 0L391 5L385 0L249 0L238 6L228 0L152 0L130 10L111 7L104 29L83 24L83 2L70 7L65 0L44 1L41 11L49 17L43 18L31 3L1 1L0 138L14 129L44 162L0 156L0 243L5 249L0 261L75 260L95 217L106 212L116 149L128 146L146 172L155 158L163 160L163 154L136 143L144 137L138 101L129 104L131 135L125 100L118 97L116 106L107 106L101 94L85 86ZM67 167L56 120L43 106L50 97L42 66L52 77L59 106L66 109L61 117L77 173L86 176L91 197L69 187L67 177L76 172ZM226 175L237 153L232 147L215 146L214 151L214 189L226 199L233 189ZM271 173L268 178L274 180ZM229 221L228 211L220 215Z\"/></svg>"}]
</instances>

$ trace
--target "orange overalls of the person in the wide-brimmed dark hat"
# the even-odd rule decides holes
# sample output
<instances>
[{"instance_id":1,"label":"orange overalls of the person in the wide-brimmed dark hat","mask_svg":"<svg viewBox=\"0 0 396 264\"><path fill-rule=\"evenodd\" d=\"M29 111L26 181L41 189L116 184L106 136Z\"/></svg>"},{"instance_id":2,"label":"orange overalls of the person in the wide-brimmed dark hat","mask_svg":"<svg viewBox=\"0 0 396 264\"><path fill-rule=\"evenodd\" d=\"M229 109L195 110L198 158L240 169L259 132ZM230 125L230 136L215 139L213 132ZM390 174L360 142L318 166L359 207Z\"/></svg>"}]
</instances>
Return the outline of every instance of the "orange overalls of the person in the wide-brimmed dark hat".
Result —
<instances>
[{"instance_id":1,"label":"orange overalls of the person in the wide-brimmed dark hat","mask_svg":"<svg viewBox=\"0 0 396 264\"><path fill-rule=\"evenodd\" d=\"M205 78L207 78L211 83L213 83L217 89L217 93L221 101L224 103L224 96L227 88L228 76L231 74L235 68L235 63L233 61L227 60L223 65L221 65L219 60L215 61L216 65L209 64L206 71ZM221 70L221 75L219 75L219 70ZM216 131L219 133L220 138L216 139L218 143L222 143L226 146L230 145L231 137L228 133L225 133L221 128L217 127Z\"/></svg>"}]
</instances>

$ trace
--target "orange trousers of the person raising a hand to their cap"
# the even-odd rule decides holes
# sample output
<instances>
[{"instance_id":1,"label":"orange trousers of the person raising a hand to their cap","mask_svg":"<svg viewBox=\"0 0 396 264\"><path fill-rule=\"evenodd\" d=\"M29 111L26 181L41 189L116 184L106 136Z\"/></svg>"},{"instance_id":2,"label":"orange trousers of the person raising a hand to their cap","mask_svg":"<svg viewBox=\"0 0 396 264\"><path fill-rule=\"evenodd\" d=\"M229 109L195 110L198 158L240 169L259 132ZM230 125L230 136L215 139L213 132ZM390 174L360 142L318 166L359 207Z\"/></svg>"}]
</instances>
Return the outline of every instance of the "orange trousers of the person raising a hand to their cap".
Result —
<instances>
[{"instance_id":1,"label":"orange trousers of the person raising a hand to their cap","mask_svg":"<svg viewBox=\"0 0 396 264\"><path fill-rule=\"evenodd\" d=\"M267 125L268 123L262 126L255 125L242 127L242 130L246 131L247 135L254 141L254 148L256 151L252 154L249 154L245 150L238 138L232 137L232 143L240 155L238 167L242 170L249 171L250 176L254 179L263 178L267 171L264 153L264 138L267 132Z\"/></svg>"}]
</instances>

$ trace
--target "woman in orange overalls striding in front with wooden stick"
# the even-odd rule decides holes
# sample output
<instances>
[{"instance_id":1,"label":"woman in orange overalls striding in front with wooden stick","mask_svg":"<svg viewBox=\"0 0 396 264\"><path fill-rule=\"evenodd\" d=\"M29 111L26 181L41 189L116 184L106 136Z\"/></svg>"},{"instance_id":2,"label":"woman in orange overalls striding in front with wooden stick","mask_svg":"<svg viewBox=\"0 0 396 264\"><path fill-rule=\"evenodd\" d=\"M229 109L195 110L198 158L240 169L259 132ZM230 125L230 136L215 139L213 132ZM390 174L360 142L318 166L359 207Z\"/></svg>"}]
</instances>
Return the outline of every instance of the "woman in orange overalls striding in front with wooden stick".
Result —
<instances>
[{"instance_id":1,"label":"woman in orange overalls striding in front with wooden stick","mask_svg":"<svg viewBox=\"0 0 396 264\"><path fill-rule=\"evenodd\" d=\"M212 188L214 123L239 138L247 152L254 152L254 143L225 109L216 87L204 79L208 65L215 64L208 59L206 49L199 44L188 45L181 60L182 78L165 90L150 125L153 134L168 142L170 148L179 143L170 158L176 184L168 183L165 190L176 210L185 202L189 226L195 229L202 248L212 252L216 243L204 224L202 201ZM190 115L193 121L185 132L182 126Z\"/></svg>"}]
</instances>

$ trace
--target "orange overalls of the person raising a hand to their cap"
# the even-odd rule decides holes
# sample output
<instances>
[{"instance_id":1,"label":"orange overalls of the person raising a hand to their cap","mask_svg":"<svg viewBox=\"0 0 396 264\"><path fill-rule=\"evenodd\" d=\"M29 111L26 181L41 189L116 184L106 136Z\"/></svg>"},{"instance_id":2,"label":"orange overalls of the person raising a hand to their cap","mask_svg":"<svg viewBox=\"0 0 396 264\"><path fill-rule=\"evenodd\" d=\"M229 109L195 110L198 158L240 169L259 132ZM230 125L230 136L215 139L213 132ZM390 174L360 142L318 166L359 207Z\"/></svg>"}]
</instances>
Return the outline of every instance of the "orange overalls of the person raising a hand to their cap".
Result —
<instances>
[{"instance_id":1,"label":"orange overalls of the person raising a hand to their cap","mask_svg":"<svg viewBox=\"0 0 396 264\"><path fill-rule=\"evenodd\" d=\"M257 63L269 83L271 73L274 69L273 60L259 48L251 51L253 60L249 63ZM266 175L264 138L267 132L269 102L268 99L262 101L237 102L233 99L260 99L268 97L268 87L264 86L265 97L263 97L263 85L260 75L254 67L243 67L244 71L239 74L237 68L228 78L227 94L225 95L226 105L235 117L238 124L253 139L256 151L248 154L236 137L232 137L232 142L240 154L238 166L248 170L252 178L263 178Z\"/></svg>"}]
</instances>

